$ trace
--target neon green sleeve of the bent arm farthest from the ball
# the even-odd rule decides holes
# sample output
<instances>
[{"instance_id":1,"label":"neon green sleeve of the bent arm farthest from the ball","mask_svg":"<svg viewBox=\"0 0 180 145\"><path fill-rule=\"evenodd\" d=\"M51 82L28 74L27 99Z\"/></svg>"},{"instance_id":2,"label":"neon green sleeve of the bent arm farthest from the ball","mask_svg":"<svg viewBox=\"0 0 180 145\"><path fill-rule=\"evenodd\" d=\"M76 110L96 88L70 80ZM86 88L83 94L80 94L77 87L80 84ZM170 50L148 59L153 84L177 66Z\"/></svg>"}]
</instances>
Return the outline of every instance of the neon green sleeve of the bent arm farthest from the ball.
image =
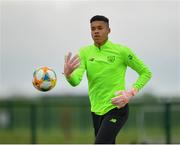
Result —
<instances>
[{"instance_id":1,"label":"neon green sleeve of the bent arm farthest from the ball","mask_svg":"<svg viewBox=\"0 0 180 145\"><path fill-rule=\"evenodd\" d=\"M150 80L152 73L144 62L127 47L125 48L125 57L126 64L139 74L133 87L140 90Z\"/></svg>"}]
</instances>

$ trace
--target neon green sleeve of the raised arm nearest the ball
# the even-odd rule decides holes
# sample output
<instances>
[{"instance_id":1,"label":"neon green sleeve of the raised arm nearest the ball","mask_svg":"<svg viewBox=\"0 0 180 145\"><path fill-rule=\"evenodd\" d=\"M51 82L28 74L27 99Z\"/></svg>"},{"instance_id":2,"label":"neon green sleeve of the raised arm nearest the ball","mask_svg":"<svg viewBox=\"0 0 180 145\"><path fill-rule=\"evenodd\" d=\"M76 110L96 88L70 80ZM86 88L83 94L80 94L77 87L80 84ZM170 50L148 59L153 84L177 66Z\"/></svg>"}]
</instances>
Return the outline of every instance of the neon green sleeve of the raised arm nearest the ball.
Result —
<instances>
[{"instance_id":1,"label":"neon green sleeve of the raised arm nearest the ball","mask_svg":"<svg viewBox=\"0 0 180 145\"><path fill-rule=\"evenodd\" d=\"M80 66L75 69L69 78L66 78L66 80L72 85L77 86L83 77L83 74L85 72L86 66L85 66L85 57L83 54L83 50L79 50L79 57L80 57Z\"/></svg>"}]
</instances>

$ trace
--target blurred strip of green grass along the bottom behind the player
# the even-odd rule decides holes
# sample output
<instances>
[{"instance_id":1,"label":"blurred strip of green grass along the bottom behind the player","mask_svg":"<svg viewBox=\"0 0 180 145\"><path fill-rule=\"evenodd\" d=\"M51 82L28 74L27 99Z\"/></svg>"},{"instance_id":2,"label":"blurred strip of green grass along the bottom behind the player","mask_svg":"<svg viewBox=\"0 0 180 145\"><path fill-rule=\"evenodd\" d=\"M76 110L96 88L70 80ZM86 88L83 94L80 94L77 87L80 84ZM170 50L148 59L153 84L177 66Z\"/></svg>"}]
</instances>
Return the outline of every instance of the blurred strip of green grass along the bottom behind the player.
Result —
<instances>
[{"instance_id":1,"label":"blurred strip of green grass along the bottom behind the player","mask_svg":"<svg viewBox=\"0 0 180 145\"><path fill-rule=\"evenodd\" d=\"M179 128L173 131L172 143L180 143ZM148 128L145 134L136 128L123 128L118 134L116 143L165 143L165 133L162 129ZM38 129L36 143L39 144L93 144L93 130ZM2 144L30 144L31 133L28 129L1 130L0 143Z\"/></svg>"}]
</instances>

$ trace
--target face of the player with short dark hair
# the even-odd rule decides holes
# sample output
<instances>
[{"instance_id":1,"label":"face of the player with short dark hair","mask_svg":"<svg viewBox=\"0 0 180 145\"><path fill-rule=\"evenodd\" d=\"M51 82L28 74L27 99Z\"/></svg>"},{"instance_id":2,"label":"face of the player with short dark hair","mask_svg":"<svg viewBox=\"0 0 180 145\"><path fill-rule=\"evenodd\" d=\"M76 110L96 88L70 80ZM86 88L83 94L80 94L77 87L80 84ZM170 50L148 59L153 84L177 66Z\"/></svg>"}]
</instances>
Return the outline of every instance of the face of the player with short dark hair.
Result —
<instances>
[{"instance_id":1,"label":"face of the player with short dark hair","mask_svg":"<svg viewBox=\"0 0 180 145\"><path fill-rule=\"evenodd\" d=\"M95 44L101 46L108 39L110 28L104 21L94 21L91 23L91 36Z\"/></svg>"}]
</instances>

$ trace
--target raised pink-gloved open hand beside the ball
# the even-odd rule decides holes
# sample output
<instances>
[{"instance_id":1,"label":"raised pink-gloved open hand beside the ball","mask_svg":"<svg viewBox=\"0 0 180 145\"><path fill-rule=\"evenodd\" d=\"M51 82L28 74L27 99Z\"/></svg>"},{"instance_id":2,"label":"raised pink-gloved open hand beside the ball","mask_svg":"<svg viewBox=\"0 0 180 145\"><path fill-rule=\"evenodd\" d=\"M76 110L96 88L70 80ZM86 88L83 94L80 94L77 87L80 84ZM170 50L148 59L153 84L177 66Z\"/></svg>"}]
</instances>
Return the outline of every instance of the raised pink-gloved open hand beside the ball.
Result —
<instances>
[{"instance_id":1,"label":"raised pink-gloved open hand beside the ball","mask_svg":"<svg viewBox=\"0 0 180 145\"><path fill-rule=\"evenodd\" d=\"M80 65L80 59L79 56L76 54L71 58L72 53L69 52L65 56L65 62L64 62L64 75L69 78L71 73Z\"/></svg>"}]
</instances>

